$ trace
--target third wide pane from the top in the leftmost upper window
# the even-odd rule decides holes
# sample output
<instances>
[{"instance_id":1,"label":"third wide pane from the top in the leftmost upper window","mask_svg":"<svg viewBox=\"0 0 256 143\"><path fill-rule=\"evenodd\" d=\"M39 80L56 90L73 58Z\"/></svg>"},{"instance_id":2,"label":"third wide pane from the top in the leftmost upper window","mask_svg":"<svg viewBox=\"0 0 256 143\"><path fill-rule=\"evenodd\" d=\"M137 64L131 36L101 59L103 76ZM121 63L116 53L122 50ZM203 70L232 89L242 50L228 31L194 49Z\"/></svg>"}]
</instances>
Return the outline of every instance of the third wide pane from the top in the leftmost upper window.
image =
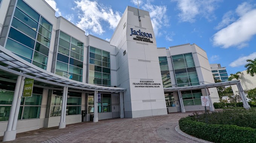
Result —
<instances>
[{"instance_id":1,"label":"third wide pane from the top in the leftmost upper window","mask_svg":"<svg viewBox=\"0 0 256 143\"><path fill-rule=\"evenodd\" d=\"M33 30L30 27L28 27L27 25L23 24L16 18L12 19L12 26L34 39L35 39L35 36L37 36L37 32L35 30Z\"/></svg>"}]
</instances>

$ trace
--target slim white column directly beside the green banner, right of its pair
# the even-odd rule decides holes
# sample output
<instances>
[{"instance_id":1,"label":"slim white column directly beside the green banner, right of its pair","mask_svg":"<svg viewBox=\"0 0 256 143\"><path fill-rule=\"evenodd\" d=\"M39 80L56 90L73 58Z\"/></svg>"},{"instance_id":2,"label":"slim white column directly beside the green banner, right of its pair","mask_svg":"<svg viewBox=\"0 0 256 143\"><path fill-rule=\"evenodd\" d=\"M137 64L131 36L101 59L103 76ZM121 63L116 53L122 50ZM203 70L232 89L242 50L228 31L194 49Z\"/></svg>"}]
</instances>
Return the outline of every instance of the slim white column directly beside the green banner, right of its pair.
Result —
<instances>
[{"instance_id":1,"label":"slim white column directly beside the green banner, right of its pair","mask_svg":"<svg viewBox=\"0 0 256 143\"><path fill-rule=\"evenodd\" d=\"M25 77L23 76L21 78L20 90L19 90L17 105L16 105L16 109L15 109L14 119L13 119L13 123L12 123L12 131L16 130L18 115L19 115L19 111L20 111L20 101L22 98L22 93L23 93L23 88L24 88L24 80L25 80Z\"/></svg>"}]
</instances>

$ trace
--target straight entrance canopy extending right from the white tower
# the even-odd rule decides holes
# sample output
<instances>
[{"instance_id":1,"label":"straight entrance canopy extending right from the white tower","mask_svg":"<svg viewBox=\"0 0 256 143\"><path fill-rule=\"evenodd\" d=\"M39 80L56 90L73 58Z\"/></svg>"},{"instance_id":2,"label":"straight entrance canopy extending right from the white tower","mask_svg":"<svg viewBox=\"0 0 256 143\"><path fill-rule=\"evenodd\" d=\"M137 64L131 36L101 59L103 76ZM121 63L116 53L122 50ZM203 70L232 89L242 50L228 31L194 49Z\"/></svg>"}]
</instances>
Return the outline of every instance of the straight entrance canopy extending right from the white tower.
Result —
<instances>
[{"instance_id":1,"label":"straight entrance canopy extending right from the white tower","mask_svg":"<svg viewBox=\"0 0 256 143\"><path fill-rule=\"evenodd\" d=\"M210 84L203 84L203 85L164 88L164 91L165 92L172 92L172 91L195 90L195 89L204 89L204 88L213 88L213 87L220 87L220 86L236 85L238 83L240 84L240 80L232 80L232 81L217 82L217 83L210 83Z\"/></svg>"}]
</instances>

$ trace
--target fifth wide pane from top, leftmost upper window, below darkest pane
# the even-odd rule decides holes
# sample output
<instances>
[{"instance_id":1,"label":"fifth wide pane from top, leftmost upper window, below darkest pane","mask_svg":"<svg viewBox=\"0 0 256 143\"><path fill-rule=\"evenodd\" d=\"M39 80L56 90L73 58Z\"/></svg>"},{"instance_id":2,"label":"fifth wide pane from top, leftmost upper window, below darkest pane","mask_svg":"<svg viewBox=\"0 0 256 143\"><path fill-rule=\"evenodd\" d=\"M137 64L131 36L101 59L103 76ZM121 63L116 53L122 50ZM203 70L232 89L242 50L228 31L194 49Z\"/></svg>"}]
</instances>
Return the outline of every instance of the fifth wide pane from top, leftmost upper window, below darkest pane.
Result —
<instances>
[{"instance_id":1,"label":"fifth wide pane from top, leftmost upper window, below darkest pane","mask_svg":"<svg viewBox=\"0 0 256 143\"><path fill-rule=\"evenodd\" d=\"M8 38L5 48L26 58L32 59L33 50L15 42L14 40Z\"/></svg>"}]
</instances>

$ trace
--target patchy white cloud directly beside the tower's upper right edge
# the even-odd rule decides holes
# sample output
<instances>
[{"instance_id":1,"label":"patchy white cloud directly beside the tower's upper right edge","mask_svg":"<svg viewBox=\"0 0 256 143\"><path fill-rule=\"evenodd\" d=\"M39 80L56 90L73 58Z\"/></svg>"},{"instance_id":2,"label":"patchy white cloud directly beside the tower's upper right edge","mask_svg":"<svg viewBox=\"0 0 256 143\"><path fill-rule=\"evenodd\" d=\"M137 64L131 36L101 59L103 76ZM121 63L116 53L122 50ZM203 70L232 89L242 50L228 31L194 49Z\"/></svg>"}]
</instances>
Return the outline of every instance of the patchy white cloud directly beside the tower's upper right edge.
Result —
<instances>
[{"instance_id":1,"label":"patchy white cloud directly beside the tower's upper right edge","mask_svg":"<svg viewBox=\"0 0 256 143\"><path fill-rule=\"evenodd\" d=\"M160 32L162 26L169 25L169 18L166 13L167 6L156 6L151 4L150 0L147 0L147 2L142 5L142 9L149 12L155 36L160 36L162 34Z\"/></svg>"}]
</instances>

